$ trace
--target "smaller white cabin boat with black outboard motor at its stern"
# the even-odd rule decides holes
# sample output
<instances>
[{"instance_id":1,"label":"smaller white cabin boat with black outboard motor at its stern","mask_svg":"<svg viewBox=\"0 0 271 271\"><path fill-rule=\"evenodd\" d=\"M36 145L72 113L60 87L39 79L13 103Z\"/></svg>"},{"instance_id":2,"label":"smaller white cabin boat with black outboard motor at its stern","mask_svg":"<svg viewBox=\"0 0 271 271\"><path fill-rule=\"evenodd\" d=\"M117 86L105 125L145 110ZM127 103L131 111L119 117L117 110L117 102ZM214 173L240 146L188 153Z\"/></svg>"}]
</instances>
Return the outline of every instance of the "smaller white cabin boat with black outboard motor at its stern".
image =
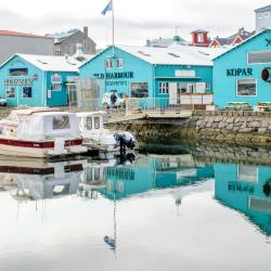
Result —
<instances>
[{"instance_id":1,"label":"smaller white cabin boat with black outboard motor at its stern","mask_svg":"<svg viewBox=\"0 0 271 271\"><path fill-rule=\"evenodd\" d=\"M103 152L119 152L121 147L133 150L137 141L130 132L112 132L104 128L105 115L102 111L77 113L83 145Z\"/></svg>"}]
</instances>

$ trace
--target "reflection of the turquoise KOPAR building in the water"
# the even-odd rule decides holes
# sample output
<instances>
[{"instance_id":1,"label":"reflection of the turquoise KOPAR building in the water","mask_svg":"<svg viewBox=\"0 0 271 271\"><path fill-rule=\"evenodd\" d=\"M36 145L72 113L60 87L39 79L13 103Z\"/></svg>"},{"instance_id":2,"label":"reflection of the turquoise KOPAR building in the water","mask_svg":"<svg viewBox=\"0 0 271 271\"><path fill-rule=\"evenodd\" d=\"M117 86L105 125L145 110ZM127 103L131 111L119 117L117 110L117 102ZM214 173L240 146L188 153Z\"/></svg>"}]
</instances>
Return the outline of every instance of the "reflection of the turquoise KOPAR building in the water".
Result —
<instances>
[{"instance_id":1,"label":"reflection of the turquoise KOPAR building in the water","mask_svg":"<svg viewBox=\"0 0 271 271\"><path fill-rule=\"evenodd\" d=\"M215 196L271 234L271 167L215 164Z\"/></svg>"}]
</instances>

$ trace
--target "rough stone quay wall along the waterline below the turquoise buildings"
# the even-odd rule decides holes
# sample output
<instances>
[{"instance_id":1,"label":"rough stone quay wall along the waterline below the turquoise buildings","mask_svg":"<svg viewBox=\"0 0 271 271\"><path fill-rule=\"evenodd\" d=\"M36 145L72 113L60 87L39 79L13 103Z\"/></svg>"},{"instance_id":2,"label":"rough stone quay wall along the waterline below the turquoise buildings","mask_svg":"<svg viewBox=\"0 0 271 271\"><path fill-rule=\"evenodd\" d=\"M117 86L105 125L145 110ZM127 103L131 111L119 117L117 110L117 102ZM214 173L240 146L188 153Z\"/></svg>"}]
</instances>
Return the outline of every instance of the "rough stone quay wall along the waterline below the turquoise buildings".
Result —
<instances>
[{"instance_id":1,"label":"rough stone quay wall along the waterline below the turquoise buildings","mask_svg":"<svg viewBox=\"0 0 271 271\"><path fill-rule=\"evenodd\" d=\"M186 121L168 125L141 120L109 126L128 130L141 141L194 140L271 145L271 113L246 111L194 111Z\"/></svg>"}]
</instances>

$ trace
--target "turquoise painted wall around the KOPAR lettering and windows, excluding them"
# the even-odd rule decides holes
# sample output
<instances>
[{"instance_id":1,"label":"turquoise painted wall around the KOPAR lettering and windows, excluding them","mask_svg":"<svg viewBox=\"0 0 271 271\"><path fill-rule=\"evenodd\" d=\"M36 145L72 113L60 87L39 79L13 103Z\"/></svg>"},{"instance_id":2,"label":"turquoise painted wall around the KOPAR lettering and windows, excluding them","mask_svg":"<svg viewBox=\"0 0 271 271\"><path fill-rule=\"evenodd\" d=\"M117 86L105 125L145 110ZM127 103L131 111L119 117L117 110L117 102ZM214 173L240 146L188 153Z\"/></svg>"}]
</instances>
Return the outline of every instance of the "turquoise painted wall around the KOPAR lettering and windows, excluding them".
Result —
<instances>
[{"instance_id":1,"label":"turquoise painted wall around the KOPAR lettering and windows, excluding them","mask_svg":"<svg viewBox=\"0 0 271 271\"><path fill-rule=\"evenodd\" d=\"M250 105L257 105L259 102L271 102L271 83L264 82L260 78L261 70L270 64L247 64L247 53L250 51L271 50L267 47L267 39L270 39L271 31L267 30L251 38L249 41L236 47L228 53L215 60L214 66L214 92L215 104L224 107L227 102L248 102ZM251 68L253 76L227 76L227 69L231 68ZM237 96L237 79L257 79L256 96Z\"/></svg>"}]
</instances>

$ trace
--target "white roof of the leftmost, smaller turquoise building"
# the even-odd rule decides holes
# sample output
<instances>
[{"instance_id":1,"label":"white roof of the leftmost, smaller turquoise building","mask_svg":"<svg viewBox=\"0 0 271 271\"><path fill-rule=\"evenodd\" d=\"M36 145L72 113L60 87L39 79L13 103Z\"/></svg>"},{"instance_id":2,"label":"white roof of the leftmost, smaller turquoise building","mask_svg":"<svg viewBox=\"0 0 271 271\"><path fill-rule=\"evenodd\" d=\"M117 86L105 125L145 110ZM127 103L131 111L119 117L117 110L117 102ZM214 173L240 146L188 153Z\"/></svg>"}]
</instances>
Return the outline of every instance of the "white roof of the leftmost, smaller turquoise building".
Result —
<instances>
[{"instance_id":1,"label":"white roof of the leftmost, smaller turquoise building","mask_svg":"<svg viewBox=\"0 0 271 271\"><path fill-rule=\"evenodd\" d=\"M81 62L70 56L16 54L44 72L76 72ZM5 62L7 63L7 62ZM4 64L3 64L4 65Z\"/></svg>"}]
</instances>

